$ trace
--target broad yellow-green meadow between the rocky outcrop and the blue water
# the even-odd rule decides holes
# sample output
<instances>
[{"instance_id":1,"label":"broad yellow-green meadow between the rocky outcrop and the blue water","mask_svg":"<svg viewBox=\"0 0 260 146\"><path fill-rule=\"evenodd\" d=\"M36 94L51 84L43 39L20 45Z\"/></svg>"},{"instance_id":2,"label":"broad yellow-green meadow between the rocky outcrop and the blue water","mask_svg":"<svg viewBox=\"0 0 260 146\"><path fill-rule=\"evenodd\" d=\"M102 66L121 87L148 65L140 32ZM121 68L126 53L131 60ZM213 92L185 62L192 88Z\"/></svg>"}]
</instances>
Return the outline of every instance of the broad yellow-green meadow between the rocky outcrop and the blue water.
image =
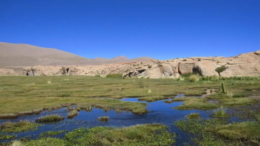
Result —
<instances>
[{"instance_id":1,"label":"broad yellow-green meadow between the rocky outcrop and the blue water","mask_svg":"<svg viewBox=\"0 0 260 146\"><path fill-rule=\"evenodd\" d=\"M220 85L220 81L197 81L195 83L173 79L119 79L86 76L0 76L0 81L0 118L38 114L43 109L61 108L65 103L86 104L89 107L104 110L144 114L147 112L145 103L98 97L117 99L122 97L168 97L177 93L202 95L206 91L205 88L218 89ZM47 84L48 81L51 81L51 84ZM232 85L234 82L235 84ZM248 92L254 92L245 91L245 88L258 90L260 81L250 84L247 80L226 80L225 86L229 92L235 93L233 98L242 98L245 97L244 93L247 95ZM152 92L149 93L148 90ZM219 97L212 96L212 98Z\"/></svg>"}]
</instances>

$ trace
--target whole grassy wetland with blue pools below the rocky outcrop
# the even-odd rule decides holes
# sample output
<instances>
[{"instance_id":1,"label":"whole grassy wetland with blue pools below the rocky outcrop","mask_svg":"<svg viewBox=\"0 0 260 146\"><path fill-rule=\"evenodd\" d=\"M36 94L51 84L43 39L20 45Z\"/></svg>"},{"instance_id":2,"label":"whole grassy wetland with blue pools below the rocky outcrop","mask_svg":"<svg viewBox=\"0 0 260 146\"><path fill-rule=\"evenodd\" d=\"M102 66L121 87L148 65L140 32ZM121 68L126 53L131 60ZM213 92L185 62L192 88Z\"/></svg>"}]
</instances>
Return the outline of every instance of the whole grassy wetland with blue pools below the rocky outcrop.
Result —
<instances>
[{"instance_id":1,"label":"whole grassy wetland with blue pools below the rocky outcrop","mask_svg":"<svg viewBox=\"0 0 260 146\"><path fill-rule=\"evenodd\" d=\"M15 132L43 131L4 145L260 144L259 77L0 76L0 93L1 139L22 138ZM18 122L20 117L33 122ZM47 123L39 126L37 120ZM82 123L82 128L69 129L70 122ZM50 126L51 131L43 130ZM178 140L174 129L189 136Z\"/></svg>"}]
</instances>

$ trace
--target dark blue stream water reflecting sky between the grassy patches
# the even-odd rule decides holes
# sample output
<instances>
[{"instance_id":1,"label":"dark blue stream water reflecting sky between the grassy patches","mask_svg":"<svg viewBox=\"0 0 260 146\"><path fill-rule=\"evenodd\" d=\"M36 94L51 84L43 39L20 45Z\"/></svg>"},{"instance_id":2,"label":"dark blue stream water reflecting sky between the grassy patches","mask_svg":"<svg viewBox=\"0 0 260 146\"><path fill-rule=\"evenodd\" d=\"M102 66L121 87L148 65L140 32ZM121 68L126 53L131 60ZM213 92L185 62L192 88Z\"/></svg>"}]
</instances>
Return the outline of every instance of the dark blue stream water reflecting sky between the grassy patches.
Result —
<instances>
[{"instance_id":1,"label":"dark blue stream water reflecting sky between the grassy patches","mask_svg":"<svg viewBox=\"0 0 260 146\"><path fill-rule=\"evenodd\" d=\"M113 110L105 112L102 109L93 108L91 112L82 110L80 111L80 114L75 116L73 119L67 119L67 114L68 114L66 112L67 108L61 108L59 110L54 110L54 111L43 111L39 115L20 116L17 119L0 120L0 124L6 121L11 121L11 122L18 122L20 120L35 121L37 118L50 115L50 114L58 114L60 116L65 117L64 121L43 124L43 126L38 127L39 129L36 131L25 131L25 132L16 133L18 138L24 136L29 136L30 138L37 138L41 132L50 131L50 130L71 131L79 127L95 127L95 126L122 127L122 126L131 126L131 125L145 124L145 123L163 123L170 127L171 132L178 134L176 145L182 145L182 143L184 142L189 142L188 134L178 130L173 125L173 123L183 119L184 116L190 114L191 112L198 112L204 118L209 118L211 113L211 111L202 111L202 110L172 109L172 107L177 107L179 105L182 105L183 102L164 103L164 100L155 101L155 102L146 102L146 101L138 101L138 98L123 98L120 100L148 103L149 105L147 105L147 110L149 112L144 115L133 115L131 112L125 112L125 111L118 114ZM167 100L171 100L171 99L167 99ZM97 120L99 116L109 116L109 121L99 122ZM63 135L64 134L59 134L52 137L62 137ZM0 143L6 141L10 141L10 140L0 140Z\"/></svg>"}]
</instances>

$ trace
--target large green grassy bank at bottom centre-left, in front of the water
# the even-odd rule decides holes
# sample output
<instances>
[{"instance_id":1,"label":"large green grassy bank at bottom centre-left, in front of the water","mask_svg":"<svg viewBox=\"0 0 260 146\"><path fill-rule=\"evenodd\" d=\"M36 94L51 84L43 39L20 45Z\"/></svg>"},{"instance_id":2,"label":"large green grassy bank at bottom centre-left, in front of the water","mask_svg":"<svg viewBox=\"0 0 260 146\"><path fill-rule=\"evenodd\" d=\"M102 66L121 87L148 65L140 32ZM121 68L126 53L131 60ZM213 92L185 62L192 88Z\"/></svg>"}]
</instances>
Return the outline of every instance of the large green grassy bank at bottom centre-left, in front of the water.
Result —
<instances>
[{"instance_id":1,"label":"large green grassy bank at bottom centre-left, in front of the water","mask_svg":"<svg viewBox=\"0 0 260 146\"><path fill-rule=\"evenodd\" d=\"M142 124L123 128L94 127L79 128L65 134L63 139L40 138L23 142L24 146L56 146L56 145L172 145L175 134L168 132L162 124Z\"/></svg>"}]
</instances>

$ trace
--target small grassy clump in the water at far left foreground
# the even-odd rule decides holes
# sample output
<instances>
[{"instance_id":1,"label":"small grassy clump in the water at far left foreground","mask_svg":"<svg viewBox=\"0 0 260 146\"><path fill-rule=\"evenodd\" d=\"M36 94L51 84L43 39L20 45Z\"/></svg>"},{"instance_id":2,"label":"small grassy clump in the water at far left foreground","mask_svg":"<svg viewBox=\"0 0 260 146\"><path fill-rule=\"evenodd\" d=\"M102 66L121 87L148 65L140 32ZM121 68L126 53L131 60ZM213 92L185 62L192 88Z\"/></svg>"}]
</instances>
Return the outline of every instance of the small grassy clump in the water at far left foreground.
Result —
<instances>
[{"instance_id":1,"label":"small grassy clump in the water at far left foreground","mask_svg":"<svg viewBox=\"0 0 260 146\"><path fill-rule=\"evenodd\" d=\"M30 131L36 130L40 126L39 124L29 122L29 121L20 121L20 122L5 122L0 125L2 132L21 132L21 131Z\"/></svg>"}]
</instances>

